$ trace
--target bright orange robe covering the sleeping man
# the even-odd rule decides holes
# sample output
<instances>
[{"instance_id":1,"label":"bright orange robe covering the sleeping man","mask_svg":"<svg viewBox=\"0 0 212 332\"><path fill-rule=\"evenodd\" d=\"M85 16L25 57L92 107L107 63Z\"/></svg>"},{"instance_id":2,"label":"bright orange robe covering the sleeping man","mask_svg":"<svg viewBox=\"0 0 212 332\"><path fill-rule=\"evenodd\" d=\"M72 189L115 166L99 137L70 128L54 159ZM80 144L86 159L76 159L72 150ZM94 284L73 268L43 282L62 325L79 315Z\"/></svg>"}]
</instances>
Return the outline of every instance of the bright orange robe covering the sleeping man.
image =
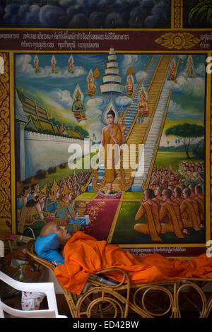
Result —
<instances>
[{"instance_id":1,"label":"bright orange robe covering the sleeping man","mask_svg":"<svg viewBox=\"0 0 212 332\"><path fill-rule=\"evenodd\" d=\"M177 278L212 278L212 259L205 254L185 261L168 259L160 254L136 256L117 244L98 241L81 231L73 232L64 247L65 263L54 268L54 275L62 287L80 294L90 275L105 268L122 268L131 283L151 283ZM121 281L119 271L105 273Z\"/></svg>"}]
</instances>

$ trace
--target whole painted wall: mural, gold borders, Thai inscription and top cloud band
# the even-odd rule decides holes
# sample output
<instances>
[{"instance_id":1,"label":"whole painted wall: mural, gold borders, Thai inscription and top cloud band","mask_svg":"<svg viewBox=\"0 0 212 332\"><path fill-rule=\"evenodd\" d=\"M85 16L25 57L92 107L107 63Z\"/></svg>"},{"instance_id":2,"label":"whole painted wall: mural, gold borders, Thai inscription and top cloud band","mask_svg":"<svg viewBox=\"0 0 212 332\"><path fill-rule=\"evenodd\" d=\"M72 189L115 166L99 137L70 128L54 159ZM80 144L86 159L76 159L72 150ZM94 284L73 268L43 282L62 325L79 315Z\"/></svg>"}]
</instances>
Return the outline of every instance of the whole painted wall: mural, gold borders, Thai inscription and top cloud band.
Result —
<instances>
[{"instance_id":1,"label":"whole painted wall: mural, gold borders, Thai inscription and top cloud band","mask_svg":"<svg viewBox=\"0 0 212 332\"><path fill-rule=\"evenodd\" d=\"M57 220L133 254L205 251L211 13L207 0L1 1L1 239Z\"/></svg>"}]
</instances>

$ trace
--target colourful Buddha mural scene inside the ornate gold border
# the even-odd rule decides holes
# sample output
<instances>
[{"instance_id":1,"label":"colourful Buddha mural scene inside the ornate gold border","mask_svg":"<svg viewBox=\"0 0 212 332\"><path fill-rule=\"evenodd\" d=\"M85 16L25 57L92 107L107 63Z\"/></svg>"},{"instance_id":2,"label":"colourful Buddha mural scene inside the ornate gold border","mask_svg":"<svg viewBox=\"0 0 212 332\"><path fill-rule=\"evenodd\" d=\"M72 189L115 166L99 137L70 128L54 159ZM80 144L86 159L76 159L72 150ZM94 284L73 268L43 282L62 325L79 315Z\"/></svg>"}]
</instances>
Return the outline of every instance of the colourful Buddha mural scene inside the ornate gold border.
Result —
<instances>
[{"instance_id":1,"label":"colourful Buddha mural scene inside the ornate gold border","mask_svg":"<svg viewBox=\"0 0 212 332\"><path fill-rule=\"evenodd\" d=\"M206 242L205 54L16 54L15 73L18 232Z\"/></svg>"}]
</instances>

